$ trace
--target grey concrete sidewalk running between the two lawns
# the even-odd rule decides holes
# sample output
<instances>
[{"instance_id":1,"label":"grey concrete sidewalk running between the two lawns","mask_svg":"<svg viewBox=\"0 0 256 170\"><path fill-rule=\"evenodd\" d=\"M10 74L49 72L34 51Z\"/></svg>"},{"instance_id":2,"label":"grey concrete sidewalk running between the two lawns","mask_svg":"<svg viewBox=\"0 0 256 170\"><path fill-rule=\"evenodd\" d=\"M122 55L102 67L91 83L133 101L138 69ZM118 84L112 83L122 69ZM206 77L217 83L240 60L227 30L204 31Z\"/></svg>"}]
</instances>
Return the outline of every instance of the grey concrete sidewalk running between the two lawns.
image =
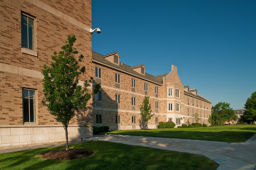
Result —
<instances>
[{"instance_id":1,"label":"grey concrete sidewalk running between the two lawns","mask_svg":"<svg viewBox=\"0 0 256 170\"><path fill-rule=\"evenodd\" d=\"M131 135L94 135L101 140L127 145L204 155L218 164L218 170L254 169L256 166L256 134L244 143L226 143L189 139L138 137Z\"/></svg>"}]
</instances>

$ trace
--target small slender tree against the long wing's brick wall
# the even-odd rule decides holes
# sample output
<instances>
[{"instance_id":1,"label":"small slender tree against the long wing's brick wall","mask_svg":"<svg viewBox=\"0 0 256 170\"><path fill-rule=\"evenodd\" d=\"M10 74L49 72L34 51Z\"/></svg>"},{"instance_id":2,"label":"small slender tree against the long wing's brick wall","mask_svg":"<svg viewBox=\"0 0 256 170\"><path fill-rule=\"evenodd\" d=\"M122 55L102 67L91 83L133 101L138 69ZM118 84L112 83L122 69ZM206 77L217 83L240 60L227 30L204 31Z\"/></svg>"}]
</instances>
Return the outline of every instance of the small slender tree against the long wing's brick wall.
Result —
<instances>
[{"instance_id":1,"label":"small slender tree against the long wing's brick wall","mask_svg":"<svg viewBox=\"0 0 256 170\"><path fill-rule=\"evenodd\" d=\"M154 114L151 114L151 104L149 104L149 96L145 96L143 99L142 105L140 106L140 115L142 118L143 128L148 128L148 121L151 119Z\"/></svg>"}]
</instances>

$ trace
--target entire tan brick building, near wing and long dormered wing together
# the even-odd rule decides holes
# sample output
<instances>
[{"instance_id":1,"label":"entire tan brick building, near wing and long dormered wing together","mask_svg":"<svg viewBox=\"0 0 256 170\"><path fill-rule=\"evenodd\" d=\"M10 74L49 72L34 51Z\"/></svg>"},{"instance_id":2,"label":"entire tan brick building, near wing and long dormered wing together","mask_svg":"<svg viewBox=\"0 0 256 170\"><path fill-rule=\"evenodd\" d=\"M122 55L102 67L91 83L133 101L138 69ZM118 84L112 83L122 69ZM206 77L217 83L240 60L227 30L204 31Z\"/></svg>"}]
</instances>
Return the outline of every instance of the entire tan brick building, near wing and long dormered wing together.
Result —
<instances>
[{"instance_id":1,"label":"entire tan brick building, near wing and long dormered wing together","mask_svg":"<svg viewBox=\"0 0 256 170\"><path fill-rule=\"evenodd\" d=\"M4 0L0 15L0 149L65 141L62 125L41 103L41 71L69 35L76 36L75 47L84 55L81 81L93 77L102 84L94 104L91 99L70 121L69 140L91 137L92 125L140 129L145 95L155 113L149 128L161 121L192 123L193 113L207 123L211 101L184 87L174 65L170 73L153 76L143 64L119 62L117 52L92 52L91 0Z\"/></svg>"}]
</instances>

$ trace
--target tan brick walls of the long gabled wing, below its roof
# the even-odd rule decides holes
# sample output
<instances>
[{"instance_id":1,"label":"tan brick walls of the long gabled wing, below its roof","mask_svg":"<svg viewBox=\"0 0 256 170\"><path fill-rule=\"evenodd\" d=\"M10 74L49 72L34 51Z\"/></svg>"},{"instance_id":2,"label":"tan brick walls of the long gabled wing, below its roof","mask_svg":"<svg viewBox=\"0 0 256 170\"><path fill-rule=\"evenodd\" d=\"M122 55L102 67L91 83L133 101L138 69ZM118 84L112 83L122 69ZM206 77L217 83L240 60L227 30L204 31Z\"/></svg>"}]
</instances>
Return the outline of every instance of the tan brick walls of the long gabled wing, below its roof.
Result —
<instances>
[{"instance_id":1,"label":"tan brick walls of the long gabled wing, below its roof","mask_svg":"<svg viewBox=\"0 0 256 170\"><path fill-rule=\"evenodd\" d=\"M139 120L140 116L140 105L142 104L143 98L145 96L144 83L148 83L148 95L150 96L151 110L155 115L149 120L148 124L151 128L156 128L156 119L158 117L159 122L166 122L168 118L171 117L172 121L176 123L176 118L180 118L180 125L182 123L188 124L188 118L190 118L190 123L192 123L193 116L190 111L188 115L187 108L190 107L187 105L187 96L184 94L184 87L179 78L177 72L172 72L167 78L163 78L163 86L158 86L157 84L143 80L142 78L134 77L133 75L123 73L120 70L114 70L110 67L97 64L93 62L94 67L100 67L102 71L101 82L102 82L102 107L95 108L94 113L94 124L95 124L95 114L102 114L103 122L102 125L110 126L111 130L115 130L115 116L121 115L121 129L132 129L132 116L136 116L136 128L140 129ZM121 88L115 88L115 73L120 74ZM135 79L136 91L132 92L131 90L131 79ZM155 87L158 87L158 98L155 96ZM167 89L172 88L172 96L167 95ZM179 89L179 97L175 96L175 89ZM115 94L121 95L121 108L115 109ZM136 99L136 109L132 110L131 98L135 97ZM190 97L190 100L191 97ZM197 99L195 99L196 102ZM155 103L158 102L158 113L156 113ZM200 104L200 101L198 101ZM168 103L173 104L173 110L168 111ZM176 111L175 104L179 104L179 111ZM190 101L191 105L191 101ZM210 110L203 108L204 103L202 103L202 108L200 105L198 107L193 107L200 115L202 111L201 123L207 122L207 115L211 113ZM204 117L204 112L205 117ZM99 125L100 126L100 125Z\"/></svg>"}]
</instances>

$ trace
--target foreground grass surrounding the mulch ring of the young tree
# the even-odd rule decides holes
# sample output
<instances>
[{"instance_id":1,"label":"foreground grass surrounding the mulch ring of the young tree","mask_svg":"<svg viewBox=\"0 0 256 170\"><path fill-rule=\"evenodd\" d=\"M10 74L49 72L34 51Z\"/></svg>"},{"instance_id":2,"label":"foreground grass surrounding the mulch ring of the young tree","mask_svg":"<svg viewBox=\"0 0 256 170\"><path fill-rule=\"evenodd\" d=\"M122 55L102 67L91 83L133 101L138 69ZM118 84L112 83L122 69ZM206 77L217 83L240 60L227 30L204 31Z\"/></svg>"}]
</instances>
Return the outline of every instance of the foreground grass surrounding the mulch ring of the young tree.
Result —
<instances>
[{"instance_id":1,"label":"foreground grass surrounding the mulch ring of the young tree","mask_svg":"<svg viewBox=\"0 0 256 170\"><path fill-rule=\"evenodd\" d=\"M121 143L91 141L70 148L92 149L90 157L75 160L45 160L43 152L65 147L41 148L0 155L0 169L217 169L212 160L194 154Z\"/></svg>"}]
</instances>

